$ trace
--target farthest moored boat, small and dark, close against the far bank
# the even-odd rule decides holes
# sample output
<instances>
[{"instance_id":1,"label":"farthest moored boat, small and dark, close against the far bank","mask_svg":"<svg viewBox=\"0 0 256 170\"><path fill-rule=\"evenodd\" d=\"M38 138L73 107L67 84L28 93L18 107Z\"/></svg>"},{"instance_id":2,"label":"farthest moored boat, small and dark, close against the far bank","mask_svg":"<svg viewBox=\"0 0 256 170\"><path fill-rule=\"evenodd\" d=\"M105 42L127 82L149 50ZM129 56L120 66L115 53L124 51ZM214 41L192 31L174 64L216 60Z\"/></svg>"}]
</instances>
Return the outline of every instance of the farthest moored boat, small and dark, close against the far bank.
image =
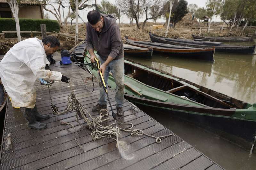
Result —
<instances>
[{"instance_id":1,"label":"farthest moored boat, small and dark, close against the far bank","mask_svg":"<svg viewBox=\"0 0 256 170\"><path fill-rule=\"evenodd\" d=\"M236 42L244 42L244 41L253 41L252 37L206 37L206 36L198 36L192 34L193 39L202 39L207 41L236 41Z\"/></svg>"}]
</instances>

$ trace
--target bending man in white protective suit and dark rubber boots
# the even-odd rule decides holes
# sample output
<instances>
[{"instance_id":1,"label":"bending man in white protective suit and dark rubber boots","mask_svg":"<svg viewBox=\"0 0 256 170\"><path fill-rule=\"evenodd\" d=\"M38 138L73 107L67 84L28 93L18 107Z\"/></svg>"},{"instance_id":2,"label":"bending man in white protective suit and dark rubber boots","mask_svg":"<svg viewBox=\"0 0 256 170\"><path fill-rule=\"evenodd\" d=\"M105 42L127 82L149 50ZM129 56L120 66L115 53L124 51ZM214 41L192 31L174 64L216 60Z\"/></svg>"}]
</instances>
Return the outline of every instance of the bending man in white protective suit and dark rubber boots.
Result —
<instances>
[{"instance_id":1,"label":"bending man in white protective suit and dark rubber boots","mask_svg":"<svg viewBox=\"0 0 256 170\"><path fill-rule=\"evenodd\" d=\"M0 62L0 77L4 88L12 99L12 106L20 107L28 129L47 128L46 124L38 120L49 118L49 115L41 115L37 111L34 88L36 79L68 83L69 78L60 72L44 69L46 64L49 65L46 55L53 54L59 46L60 42L54 36L47 36L43 40L29 38L10 48Z\"/></svg>"}]
</instances>

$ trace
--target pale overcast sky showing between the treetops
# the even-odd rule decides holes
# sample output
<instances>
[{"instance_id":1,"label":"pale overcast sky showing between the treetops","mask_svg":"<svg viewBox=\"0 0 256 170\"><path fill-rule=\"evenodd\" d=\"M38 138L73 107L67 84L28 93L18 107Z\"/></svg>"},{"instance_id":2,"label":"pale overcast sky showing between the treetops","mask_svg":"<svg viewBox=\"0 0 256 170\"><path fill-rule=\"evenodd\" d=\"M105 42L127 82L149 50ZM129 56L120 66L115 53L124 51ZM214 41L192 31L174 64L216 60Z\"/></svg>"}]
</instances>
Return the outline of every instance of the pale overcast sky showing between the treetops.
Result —
<instances>
[{"instance_id":1,"label":"pale overcast sky showing between the treetops","mask_svg":"<svg viewBox=\"0 0 256 170\"><path fill-rule=\"evenodd\" d=\"M113 3L113 4L116 4L116 0L108 0L108 1ZM207 0L186 0L186 1L188 2L188 4L196 4L198 7L205 7L205 3L206 3ZM94 2L94 0L92 0L92 2ZM100 3L101 3L101 0L97 0L97 4L100 4ZM48 8L52 9L50 6L48 6ZM60 9L61 10L61 15L63 15L62 7L60 7L60 8L61 8ZM86 8L86 9L84 9L82 11L78 10L78 14L84 20L84 22L87 22L87 13L88 13L88 11L91 11L91 10L93 10L93 9ZM56 20L55 16L52 13L44 10L44 14L46 14L46 13L49 14L50 19ZM64 8L64 15L66 16L67 14L68 14L68 8L66 7L66 8ZM144 19L145 18L141 17L139 19L139 22L143 22ZM63 16L62 16L62 20L63 20ZM70 19L68 19L68 21L70 21ZM157 22L164 22L164 21L165 20L163 18L157 20ZM75 21L73 21L73 22L75 22ZM78 18L78 22L82 22L82 20L80 18ZM121 16L121 22L123 22L123 23L130 23L130 20L127 17L125 17L125 16Z\"/></svg>"}]
</instances>

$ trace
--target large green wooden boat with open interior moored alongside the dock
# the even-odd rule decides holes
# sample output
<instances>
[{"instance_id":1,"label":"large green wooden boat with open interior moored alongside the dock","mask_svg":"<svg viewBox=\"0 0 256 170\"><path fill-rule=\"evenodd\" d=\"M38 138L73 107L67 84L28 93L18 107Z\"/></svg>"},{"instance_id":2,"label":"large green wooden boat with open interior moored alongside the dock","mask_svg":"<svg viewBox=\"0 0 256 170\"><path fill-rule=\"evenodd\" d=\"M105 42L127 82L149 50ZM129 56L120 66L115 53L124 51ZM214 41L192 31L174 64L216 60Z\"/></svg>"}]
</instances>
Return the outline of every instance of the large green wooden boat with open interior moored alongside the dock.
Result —
<instances>
[{"instance_id":1,"label":"large green wooden boat with open interior moored alongside the dock","mask_svg":"<svg viewBox=\"0 0 256 170\"><path fill-rule=\"evenodd\" d=\"M84 63L90 63L85 57ZM91 70L91 66L87 66ZM93 75L98 76L96 70ZM113 77L108 86L116 89ZM250 148L256 132L256 103L250 104L144 64L125 60L125 98L137 106L180 116L232 134ZM224 136L225 136L224 135ZM231 139L232 140L232 139Z\"/></svg>"}]
</instances>

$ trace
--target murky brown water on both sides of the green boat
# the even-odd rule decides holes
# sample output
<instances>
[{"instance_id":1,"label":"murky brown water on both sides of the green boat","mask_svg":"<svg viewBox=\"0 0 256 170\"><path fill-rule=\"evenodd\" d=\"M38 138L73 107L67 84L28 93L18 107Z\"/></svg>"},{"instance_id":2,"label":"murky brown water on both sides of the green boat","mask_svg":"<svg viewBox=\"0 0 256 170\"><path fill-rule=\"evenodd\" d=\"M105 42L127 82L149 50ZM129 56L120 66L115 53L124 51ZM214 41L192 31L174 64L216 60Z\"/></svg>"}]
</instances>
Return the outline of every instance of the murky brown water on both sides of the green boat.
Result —
<instances>
[{"instance_id":1,"label":"murky brown water on both sides of the green boat","mask_svg":"<svg viewBox=\"0 0 256 170\"><path fill-rule=\"evenodd\" d=\"M256 102L256 55L215 53L214 63L160 55L154 55L152 60L127 58L236 99ZM223 168L256 169L255 153L249 157L249 151L202 128L156 111L147 113Z\"/></svg>"}]
</instances>

